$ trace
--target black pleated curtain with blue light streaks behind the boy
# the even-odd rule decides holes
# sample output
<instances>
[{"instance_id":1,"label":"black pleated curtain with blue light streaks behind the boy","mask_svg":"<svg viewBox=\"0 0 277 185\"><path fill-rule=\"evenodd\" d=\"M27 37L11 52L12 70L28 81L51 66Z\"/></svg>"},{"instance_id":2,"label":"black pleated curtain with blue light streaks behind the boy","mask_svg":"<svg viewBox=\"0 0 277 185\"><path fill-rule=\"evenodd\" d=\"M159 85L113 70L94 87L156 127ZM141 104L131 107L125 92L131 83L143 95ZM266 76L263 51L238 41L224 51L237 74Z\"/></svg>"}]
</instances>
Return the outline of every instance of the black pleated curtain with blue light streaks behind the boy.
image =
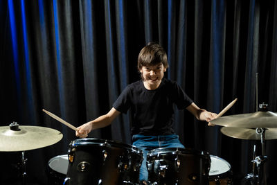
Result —
<instances>
[{"instance_id":1,"label":"black pleated curtain with blue light streaks behind the boy","mask_svg":"<svg viewBox=\"0 0 277 185\"><path fill-rule=\"evenodd\" d=\"M0 14L1 126L17 121L63 134L52 146L26 151L28 182L46 184L49 159L65 155L77 139L42 109L75 127L107 113L140 79L137 56L150 41L168 53L166 78L199 107L219 113L238 98L224 116L252 113L258 96L277 112L274 0L1 0ZM89 137L131 144L129 120L120 115ZM175 132L186 148L229 161L237 184L251 173L253 146L260 149L260 141L225 136L220 126L208 127L186 110L176 109ZM275 139L265 142L268 184L276 175L274 146ZM11 174L20 154L1 152L2 184L20 179Z\"/></svg>"}]
</instances>

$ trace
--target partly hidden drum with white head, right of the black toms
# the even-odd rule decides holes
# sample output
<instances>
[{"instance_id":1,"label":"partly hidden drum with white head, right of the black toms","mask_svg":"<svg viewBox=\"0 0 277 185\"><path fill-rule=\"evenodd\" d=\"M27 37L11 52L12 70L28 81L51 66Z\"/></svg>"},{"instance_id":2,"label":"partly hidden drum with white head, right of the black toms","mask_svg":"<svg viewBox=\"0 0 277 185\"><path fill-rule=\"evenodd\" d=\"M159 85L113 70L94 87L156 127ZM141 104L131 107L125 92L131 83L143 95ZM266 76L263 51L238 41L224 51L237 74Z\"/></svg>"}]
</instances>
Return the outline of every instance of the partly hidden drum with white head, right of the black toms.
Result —
<instances>
[{"instance_id":1,"label":"partly hidden drum with white head, right of the black toms","mask_svg":"<svg viewBox=\"0 0 277 185\"><path fill-rule=\"evenodd\" d=\"M222 185L231 185L232 181L232 171L231 165L229 162L224 159L210 155L211 157L211 169L208 173L209 175L209 184L222 184Z\"/></svg>"}]
</instances>

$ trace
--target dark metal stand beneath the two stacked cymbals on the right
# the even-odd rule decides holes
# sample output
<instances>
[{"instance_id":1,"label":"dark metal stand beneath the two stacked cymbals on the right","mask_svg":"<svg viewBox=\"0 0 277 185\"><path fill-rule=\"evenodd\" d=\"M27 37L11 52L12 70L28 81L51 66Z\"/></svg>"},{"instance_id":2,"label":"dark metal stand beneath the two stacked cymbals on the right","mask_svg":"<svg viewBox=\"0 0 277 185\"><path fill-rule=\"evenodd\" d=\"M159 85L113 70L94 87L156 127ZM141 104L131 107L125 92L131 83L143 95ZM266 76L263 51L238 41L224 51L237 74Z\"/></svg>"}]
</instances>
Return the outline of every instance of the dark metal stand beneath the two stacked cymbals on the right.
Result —
<instances>
[{"instance_id":1,"label":"dark metal stand beneath the two stacked cymbals on the right","mask_svg":"<svg viewBox=\"0 0 277 185\"><path fill-rule=\"evenodd\" d=\"M267 161L267 156L265 156L265 128L257 128L256 133L260 134L260 140L262 144L262 155L256 157L256 145L253 148L253 170L252 173L247 174L246 179L251 179L251 184L267 185L267 177L265 173L265 168L263 164Z\"/></svg>"}]
</instances>

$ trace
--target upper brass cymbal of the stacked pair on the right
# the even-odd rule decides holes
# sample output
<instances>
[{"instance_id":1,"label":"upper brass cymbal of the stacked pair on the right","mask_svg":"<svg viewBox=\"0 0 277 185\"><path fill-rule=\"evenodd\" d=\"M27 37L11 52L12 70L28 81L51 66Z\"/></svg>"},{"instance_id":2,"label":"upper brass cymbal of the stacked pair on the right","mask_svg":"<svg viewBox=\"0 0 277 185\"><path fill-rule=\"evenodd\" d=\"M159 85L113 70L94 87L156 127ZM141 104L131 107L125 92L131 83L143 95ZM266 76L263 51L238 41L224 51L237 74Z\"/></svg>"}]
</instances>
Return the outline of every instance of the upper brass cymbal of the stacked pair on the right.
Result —
<instances>
[{"instance_id":1,"label":"upper brass cymbal of the stacked pair on the right","mask_svg":"<svg viewBox=\"0 0 277 185\"><path fill-rule=\"evenodd\" d=\"M210 122L214 125L220 125L224 127L277 127L277 114L269 111L236 114L232 116L222 116Z\"/></svg>"}]
</instances>

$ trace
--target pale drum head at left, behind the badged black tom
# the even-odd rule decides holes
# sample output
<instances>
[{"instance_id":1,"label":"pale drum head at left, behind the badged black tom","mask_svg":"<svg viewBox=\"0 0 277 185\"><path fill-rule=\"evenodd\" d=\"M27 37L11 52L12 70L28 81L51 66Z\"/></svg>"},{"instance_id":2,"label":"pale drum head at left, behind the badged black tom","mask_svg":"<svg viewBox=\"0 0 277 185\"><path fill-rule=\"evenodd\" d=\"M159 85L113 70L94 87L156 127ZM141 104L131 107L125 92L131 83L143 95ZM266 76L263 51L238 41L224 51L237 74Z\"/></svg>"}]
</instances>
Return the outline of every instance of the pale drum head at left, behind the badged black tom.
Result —
<instances>
[{"instance_id":1,"label":"pale drum head at left, behind the badged black tom","mask_svg":"<svg viewBox=\"0 0 277 185\"><path fill-rule=\"evenodd\" d=\"M58 155L48 161L48 166L58 172L66 175L69 166L69 157L67 155Z\"/></svg>"}]
</instances>

